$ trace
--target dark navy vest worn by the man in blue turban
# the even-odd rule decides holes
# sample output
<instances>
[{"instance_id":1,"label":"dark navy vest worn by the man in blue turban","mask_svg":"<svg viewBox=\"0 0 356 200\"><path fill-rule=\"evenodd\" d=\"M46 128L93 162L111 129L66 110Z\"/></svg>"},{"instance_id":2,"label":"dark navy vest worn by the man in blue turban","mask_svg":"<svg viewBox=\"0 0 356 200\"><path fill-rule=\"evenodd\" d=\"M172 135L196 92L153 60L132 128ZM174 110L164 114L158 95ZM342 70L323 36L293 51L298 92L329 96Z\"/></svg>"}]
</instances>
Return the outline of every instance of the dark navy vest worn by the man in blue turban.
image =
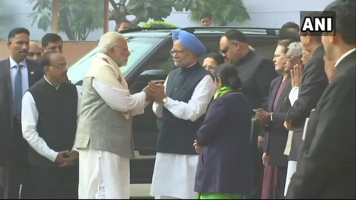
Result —
<instances>
[{"instance_id":1,"label":"dark navy vest worn by the man in blue turban","mask_svg":"<svg viewBox=\"0 0 356 200\"><path fill-rule=\"evenodd\" d=\"M189 68L177 68L169 74L166 95L173 100L188 103L197 84L208 74L199 63ZM197 155L193 143L204 117L205 115L195 121L181 120L164 108L163 117L157 120L157 152Z\"/></svg>"}]
</instances>

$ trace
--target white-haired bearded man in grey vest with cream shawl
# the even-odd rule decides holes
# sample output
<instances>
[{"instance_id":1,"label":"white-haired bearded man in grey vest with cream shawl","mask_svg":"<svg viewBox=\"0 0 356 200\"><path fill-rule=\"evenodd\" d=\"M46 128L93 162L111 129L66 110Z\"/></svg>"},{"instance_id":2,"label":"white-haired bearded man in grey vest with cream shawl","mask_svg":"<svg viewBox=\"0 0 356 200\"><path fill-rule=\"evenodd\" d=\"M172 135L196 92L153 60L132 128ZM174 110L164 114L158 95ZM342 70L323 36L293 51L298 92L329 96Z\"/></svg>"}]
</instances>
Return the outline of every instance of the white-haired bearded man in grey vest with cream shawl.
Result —
<instances>
[{"instance_id":1,"label":"white-haired bearded man in grey vest with cream shawl","mask_svg":"<svg viewBox=\"0 0 356 200\"><path fill-rule=\"evenodd\" d=\"M79 199L129 199L132 116L143 113L150 95L148 87L130 94L119 69L130 56L123 35L104 34L98 48L83 80L74 145L79 150Z\"/></svg>"}]
</instances>

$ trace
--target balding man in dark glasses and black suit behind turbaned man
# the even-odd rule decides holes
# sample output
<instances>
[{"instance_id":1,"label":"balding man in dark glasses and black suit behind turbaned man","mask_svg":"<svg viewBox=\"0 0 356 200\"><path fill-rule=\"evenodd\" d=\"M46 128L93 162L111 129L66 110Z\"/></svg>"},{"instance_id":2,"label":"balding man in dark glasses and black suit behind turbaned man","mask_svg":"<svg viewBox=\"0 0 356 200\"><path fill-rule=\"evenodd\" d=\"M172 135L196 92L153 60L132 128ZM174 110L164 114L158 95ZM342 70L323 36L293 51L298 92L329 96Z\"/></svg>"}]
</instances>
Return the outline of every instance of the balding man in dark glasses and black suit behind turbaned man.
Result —
<instances>
[{"instance_id":1,"label":"balding man in dark glasses and black suit behind turbaned man","mask_svg":"<svg viewBox=\"0 0 356 200\"><path fill-rule=\"evenodd\" d=\"M269 85L278 75L274 71L274 64L249 48L246 36L237 29L227 31L220 40L220 49L223 57L237 67L242 80L242 93L254 109L266 108L268 101ZM251 116L252 118L252 116ZM250 198L261 198L263 164L262 151L263 137L259 136L260 126L254 125L251 142L253 145L253 192ZM262 132L262 131L261 131ZM259 142L258 142L259 140Z\"/></svg>"}]
</instances>

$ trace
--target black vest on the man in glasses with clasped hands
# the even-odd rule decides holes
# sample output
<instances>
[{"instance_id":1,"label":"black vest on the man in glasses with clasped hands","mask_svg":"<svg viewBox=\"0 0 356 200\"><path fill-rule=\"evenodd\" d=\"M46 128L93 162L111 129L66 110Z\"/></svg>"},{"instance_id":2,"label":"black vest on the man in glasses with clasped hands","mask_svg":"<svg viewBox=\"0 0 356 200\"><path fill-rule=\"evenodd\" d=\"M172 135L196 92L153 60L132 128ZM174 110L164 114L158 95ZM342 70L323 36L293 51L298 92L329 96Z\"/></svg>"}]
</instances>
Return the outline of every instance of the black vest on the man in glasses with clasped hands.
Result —
<instances>
[{"instance_id":1,"label":"black vest on the man in glasses with clasped hands","mask_svg":"<svg viewBox=\"0 0 356 200\"><path fill-rule=\"evenodd\" d=\"M56 151L72 150L77 130L78 93L74 84L63 82L55 89L44 78L28 90L39 113L37 132ZM40 166L58 166L29 148L28 160Z\"/></svg>"}]
</instances>

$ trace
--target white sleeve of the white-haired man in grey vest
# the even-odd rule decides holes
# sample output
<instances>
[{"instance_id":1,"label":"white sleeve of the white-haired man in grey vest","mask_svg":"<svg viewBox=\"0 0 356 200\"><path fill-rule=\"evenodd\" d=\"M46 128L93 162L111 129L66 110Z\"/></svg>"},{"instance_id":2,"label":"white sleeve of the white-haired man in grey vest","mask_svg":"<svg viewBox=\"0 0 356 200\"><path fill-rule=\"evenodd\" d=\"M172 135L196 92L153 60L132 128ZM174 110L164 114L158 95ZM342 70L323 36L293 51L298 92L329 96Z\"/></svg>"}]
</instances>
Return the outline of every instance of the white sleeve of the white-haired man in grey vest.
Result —
<instances>
[{"instance_id":1,"label":"white sleeve of the white-haired man in grey vest","mask_svg":"<svg viewBox=\"0 0 356 200\"><path fill-rule=\"evenodd\" d=\"M92 79L92 86L111 109L120 112L131 111L131 116L143 114L145 106L149 104L145 101L145 92L131 95L129 90L109 86L95 78Z\"/></svg>"}]
</instances>

